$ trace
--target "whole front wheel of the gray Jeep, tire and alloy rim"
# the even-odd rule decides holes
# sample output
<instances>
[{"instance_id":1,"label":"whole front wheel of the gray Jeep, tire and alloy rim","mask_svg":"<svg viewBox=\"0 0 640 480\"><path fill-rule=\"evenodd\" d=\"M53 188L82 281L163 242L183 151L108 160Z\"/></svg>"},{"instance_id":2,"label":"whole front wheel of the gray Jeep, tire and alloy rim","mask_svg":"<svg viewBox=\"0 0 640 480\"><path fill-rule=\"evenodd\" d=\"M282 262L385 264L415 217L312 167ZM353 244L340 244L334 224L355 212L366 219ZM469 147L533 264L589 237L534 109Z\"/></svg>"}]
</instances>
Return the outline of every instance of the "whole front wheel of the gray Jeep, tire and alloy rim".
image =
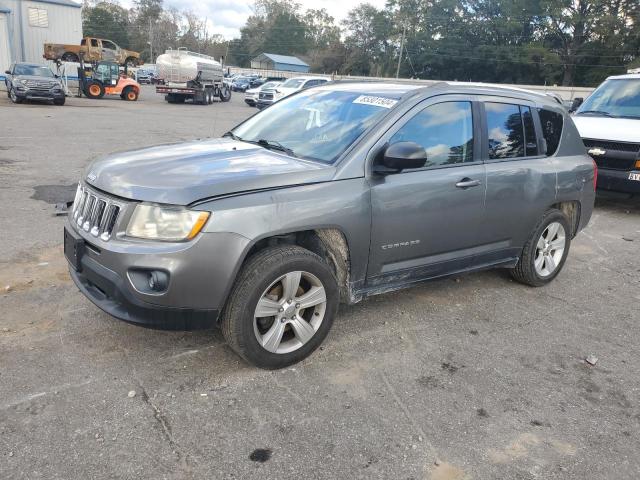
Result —
<instances>
[{"instance_id":1,"label":"whole front wheel of the gray Jeep, tire and alloy rim","mask_svg":"<svg viewBox=\"0 0 640 480\"><path fill-rule=\"evenodd\" d=\"M336 278L322 258L296 245L270 247L249 258L238 274L222 334L250 364L284 368L320 346L338 302Z\"/></svg>"}]
</instances>

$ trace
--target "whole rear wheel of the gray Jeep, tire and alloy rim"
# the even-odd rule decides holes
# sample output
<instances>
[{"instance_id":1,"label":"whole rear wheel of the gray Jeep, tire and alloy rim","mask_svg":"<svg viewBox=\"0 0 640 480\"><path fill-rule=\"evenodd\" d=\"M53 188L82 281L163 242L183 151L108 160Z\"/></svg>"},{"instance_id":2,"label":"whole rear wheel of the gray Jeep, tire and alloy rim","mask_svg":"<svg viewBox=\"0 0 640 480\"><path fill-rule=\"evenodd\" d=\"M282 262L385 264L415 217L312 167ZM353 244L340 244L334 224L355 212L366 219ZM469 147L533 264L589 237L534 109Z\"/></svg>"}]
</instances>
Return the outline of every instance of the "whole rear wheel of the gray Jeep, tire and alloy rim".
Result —
<instances>
[{"instance_id":1,"label":"whole rear wheel of the gray Jeep, tire and alloy rim","mask_svg":"<svg viewBox=\"0 0 640 480\"><path fill-rule=\"evenodd\" d=\"M548 210L524 245L511 276L532 287L546 285L562 270L570 246L567 217L555 208Z\"/></svg>"}]
</instances>

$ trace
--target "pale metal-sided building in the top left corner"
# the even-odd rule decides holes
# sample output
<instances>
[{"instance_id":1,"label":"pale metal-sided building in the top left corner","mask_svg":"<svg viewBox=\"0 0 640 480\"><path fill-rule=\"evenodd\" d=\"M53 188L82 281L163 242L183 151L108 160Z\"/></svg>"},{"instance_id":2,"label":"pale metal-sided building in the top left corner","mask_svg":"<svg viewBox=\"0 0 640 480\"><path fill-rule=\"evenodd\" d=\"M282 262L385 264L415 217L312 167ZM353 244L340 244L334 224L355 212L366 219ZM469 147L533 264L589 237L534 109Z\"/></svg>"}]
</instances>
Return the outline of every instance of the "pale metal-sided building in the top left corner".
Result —
<instances>
[{"instance_id":1,"label":"pale metal-sided building in the top left corner","mask_svg":"<svg viewBox=\"0 0 640 480\"><path fill-rule=\"evenodd\" d=\"M80 44L82 5L72 0L0 0L0 76L11 62L44 63L43 44Z\"/></svg>"}]
</instances>

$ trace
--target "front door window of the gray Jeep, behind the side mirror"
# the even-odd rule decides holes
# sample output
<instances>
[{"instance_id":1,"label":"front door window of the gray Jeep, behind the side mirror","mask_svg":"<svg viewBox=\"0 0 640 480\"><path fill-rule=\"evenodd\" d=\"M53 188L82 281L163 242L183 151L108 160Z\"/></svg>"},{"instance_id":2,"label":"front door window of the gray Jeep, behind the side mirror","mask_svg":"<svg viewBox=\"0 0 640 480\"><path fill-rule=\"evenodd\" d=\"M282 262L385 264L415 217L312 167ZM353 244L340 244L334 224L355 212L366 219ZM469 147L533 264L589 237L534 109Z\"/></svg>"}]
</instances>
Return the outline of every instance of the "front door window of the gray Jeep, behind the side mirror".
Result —
<instances>
[{"instance_id":1,"label":"front door window of the gray Jeep, behind the side mirror","mask_svg":"<svg viewBox=\"0 0 640 480\"><path fill-rule=\"evenodd\" d=\"M389 141L396 142L415 142L424 147L426 167L473 161L471 102L443 102L425 108Z\"/></svg>"}]
</instances>

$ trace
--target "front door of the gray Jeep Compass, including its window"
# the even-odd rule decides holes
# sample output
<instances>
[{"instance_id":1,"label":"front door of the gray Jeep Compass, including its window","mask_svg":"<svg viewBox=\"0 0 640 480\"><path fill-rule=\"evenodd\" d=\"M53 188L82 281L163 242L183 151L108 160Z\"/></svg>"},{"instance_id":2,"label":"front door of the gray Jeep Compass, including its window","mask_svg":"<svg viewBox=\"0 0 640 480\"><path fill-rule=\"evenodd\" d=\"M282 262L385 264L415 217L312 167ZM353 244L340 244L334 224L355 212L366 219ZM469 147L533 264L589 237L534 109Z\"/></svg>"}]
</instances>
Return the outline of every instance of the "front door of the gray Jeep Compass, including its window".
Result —
<instances>
[{"instance_id":1,"label":"front door of the gray Jeep Compass, including its window","mask_svg":"<svg viewBox=\"0 0 640 480\"><path fill-rule=\"evenodd\" d=\"M375 290L464 270L484 210L478 106L448 95L415 107L380 141L415 142L425 167L372 174L367 287Z\"/></svg>"}]
</instances>

